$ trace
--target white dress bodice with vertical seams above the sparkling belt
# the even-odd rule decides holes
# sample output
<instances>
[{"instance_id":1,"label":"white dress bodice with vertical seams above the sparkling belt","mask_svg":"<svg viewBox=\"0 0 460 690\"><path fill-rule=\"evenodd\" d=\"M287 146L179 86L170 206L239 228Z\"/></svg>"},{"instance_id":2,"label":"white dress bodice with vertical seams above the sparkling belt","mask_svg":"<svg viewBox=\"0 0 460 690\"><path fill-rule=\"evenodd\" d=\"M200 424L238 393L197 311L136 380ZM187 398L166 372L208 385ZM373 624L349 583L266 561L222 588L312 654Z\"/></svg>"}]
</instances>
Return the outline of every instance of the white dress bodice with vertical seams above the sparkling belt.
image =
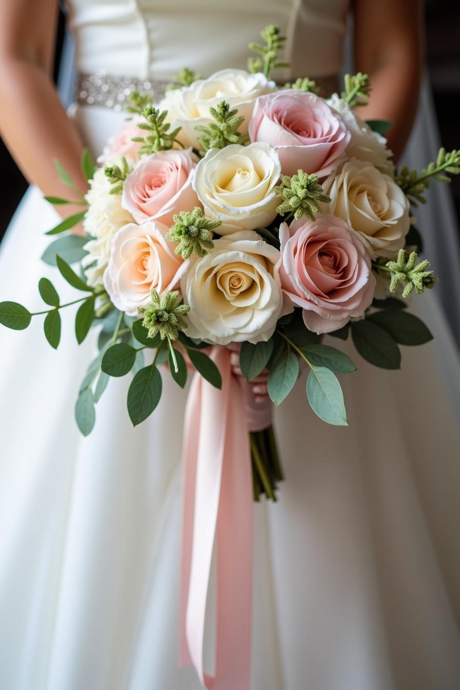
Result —
<instances>
[{"instance_id":1,"label":"white dress bodice with vertical seams above the sparkling belt","mask_svg":"<svg viewBox=\"0 0 460 690\"><path fill-rule=\"evenodd\" d=\"M208 76L246 68L267 23L287 37L280 77L341 68L349 0L68 0L80 72L170 79L184 66ZM276 75L275 75L276 76Z\"/></svg>"}]
</instances>

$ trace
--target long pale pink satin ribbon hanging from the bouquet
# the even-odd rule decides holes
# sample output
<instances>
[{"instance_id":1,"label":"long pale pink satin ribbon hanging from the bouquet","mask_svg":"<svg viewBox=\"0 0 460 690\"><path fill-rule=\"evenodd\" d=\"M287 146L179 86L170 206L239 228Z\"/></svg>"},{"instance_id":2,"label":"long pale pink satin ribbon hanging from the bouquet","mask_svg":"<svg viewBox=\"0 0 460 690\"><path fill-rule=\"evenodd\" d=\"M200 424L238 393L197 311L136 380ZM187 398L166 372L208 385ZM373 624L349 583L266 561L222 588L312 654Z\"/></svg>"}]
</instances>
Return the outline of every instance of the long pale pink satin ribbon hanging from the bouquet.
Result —
<instances>
[{"instance_id":1,"label":"long pale pink satin ribbon hanging from the bouquet","mask_svg":"<svg viewBox=\"0 0 460 690\"><path fill-rule=\"evenodd\" d=\"M222 388L195 374L186 408L179 660L183 666L193 664L205 688L249 690L252 473L246 404L250 393L248 384L232 374L228 348L215 346L210 356L221 373ZM214 676L209 676L203 669L203 640L214 538L216 660Z\"/></svg>"}]
</instances>

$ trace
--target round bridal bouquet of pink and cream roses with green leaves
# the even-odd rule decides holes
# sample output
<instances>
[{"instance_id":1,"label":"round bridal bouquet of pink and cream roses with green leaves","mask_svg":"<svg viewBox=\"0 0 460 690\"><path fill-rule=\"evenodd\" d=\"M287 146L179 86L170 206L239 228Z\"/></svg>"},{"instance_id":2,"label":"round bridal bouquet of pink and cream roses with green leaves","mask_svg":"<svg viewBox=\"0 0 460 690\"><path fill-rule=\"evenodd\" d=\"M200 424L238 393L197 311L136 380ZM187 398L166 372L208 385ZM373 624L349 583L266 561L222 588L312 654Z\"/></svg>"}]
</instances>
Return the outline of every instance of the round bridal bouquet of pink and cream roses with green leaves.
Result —
<instances>
[{"instance_id":1,"label":"round bridal bouquet of pink and cream roses with green leaves","mask_svg":"<svg viewBox=\"0 0 460 690\"><path fill-rule=\"evenodd\" d=\"M179 386L196 369L219 388L216 346L239 357L246 380L265 377L275 405L308 367L312 410L346 425L337 374L356 367L323 334L351 336L361 357L388 369L400 366L399 344L432 337L406 311L406 299L436 280L417 257L411 204L425 201L430 179L459 172L460 153L441 149L426 170L398 172L383 137L388 123L354 111L368 99L366 75L347 76L341 95L328 99L310 79L277 86L270 70L281 65L283 37L274 26L262 37L250 72L199 79L183 70L158 104L132 93L131 119L108 140L101 166L83 155L84 197L56 161L77 194L72 204L86 205L49 231L63 236L42 257L84 293L75 300L77 342L99 329L75 408L85 435L111 376L133 375L134 425L160 400L163 363ZM80 221L87 237L69 232ZM41 312L45 335L57 348L67 305L49 279L39 291L50 306ZM10 328L26 328L33 315L0 305ZM154 353L148 364L146 351ZM269 419L266 426L250 439L256 499L274 498L282 476Z\"/></svg>"}]
</instances>

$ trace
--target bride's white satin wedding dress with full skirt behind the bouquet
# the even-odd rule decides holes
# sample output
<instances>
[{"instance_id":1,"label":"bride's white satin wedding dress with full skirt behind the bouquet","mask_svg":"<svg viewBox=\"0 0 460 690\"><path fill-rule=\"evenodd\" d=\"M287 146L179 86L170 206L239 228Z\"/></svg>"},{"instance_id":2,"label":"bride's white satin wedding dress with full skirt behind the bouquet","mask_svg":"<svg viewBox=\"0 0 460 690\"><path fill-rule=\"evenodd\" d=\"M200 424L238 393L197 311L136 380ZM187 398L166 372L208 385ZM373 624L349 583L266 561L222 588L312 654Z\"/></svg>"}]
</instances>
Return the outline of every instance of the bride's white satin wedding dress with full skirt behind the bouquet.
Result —
<instances>
[{"instance_id":1,"label":"bride's white satin wedding dress with full skirt behind the bouquet","mask_svg":"<svg viewBox=\"0 0 460 690\"><path fill-rule=\"evenodd\" d=\"M347 9L74 0L70 18L80 72L243 68L246 44L273 22L292 75L322 77L341 67ZM123 121L94 105L72 117L96 154ZM55 222L30 189L1 246L0 299L38 306L42 275L74 294L39 262ZM436 338L403 348L402 371L340 342L359 367L341 377L350 426L317 419L304 380L276 411L286 481L277 504L254 506L253 690L460 687L460 446L448 393L448 383L460 393L460 368L432 295L413 303ZM78 348L69 313L56 353L41 330L37 318L26 333L0 332L0 689L198 690L177 663L186 395L164 376L161 404L133 429L130 377L112 379L83 438L72 408L94 337Z\"/></svg>"}]
</instances>

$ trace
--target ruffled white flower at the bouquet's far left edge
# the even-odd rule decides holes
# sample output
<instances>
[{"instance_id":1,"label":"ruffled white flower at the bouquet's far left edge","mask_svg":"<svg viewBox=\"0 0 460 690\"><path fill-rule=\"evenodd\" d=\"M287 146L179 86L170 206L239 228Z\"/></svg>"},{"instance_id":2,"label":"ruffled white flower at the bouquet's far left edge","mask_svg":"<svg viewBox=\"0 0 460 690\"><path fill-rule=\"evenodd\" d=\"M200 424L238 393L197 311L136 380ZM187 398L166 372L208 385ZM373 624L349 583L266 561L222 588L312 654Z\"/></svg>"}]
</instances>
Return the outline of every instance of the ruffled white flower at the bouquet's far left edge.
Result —
<instances>
[{"instance_id":1,"label":"ruffled white flower at the bouquet's far left edge","mask_svg":"<svg viewBox=\"0 0 460 690\"><path fill-rule=\"evenodd\" d=\"M112 159L114 164L120 162ZM110 190L112 185L103 168L98 168L90 180L90 189L85 197L88 210L83 219L83 228L94 239L85 244L88 255L81 262L86 268L88 285L94 288L103 284L103 272L110 258L114 234L123 225L134 222L129 211L121 206L121 194L110 194Z\"/></svg>"}]
</instances>

